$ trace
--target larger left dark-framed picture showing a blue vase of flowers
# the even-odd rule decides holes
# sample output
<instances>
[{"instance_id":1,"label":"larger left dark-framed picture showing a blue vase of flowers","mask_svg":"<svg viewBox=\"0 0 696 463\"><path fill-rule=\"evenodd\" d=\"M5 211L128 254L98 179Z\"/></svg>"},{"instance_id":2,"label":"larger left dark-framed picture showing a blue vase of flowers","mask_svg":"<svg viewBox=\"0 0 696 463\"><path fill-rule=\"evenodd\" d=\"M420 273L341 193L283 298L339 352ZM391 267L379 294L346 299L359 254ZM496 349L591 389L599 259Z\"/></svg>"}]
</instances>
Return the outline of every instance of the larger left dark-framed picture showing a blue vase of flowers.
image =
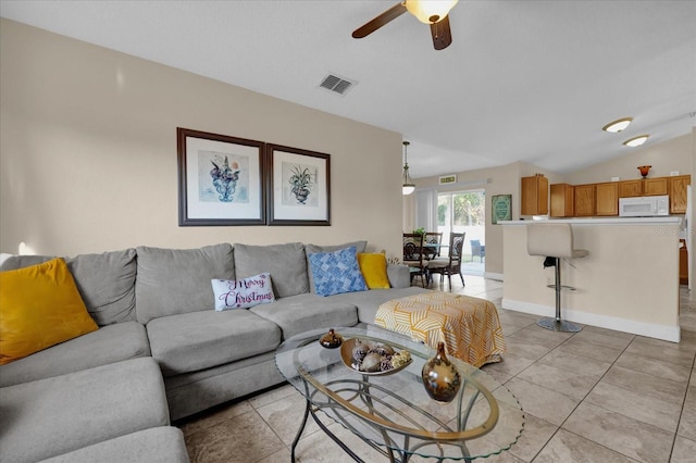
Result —
<instances>
[{"instance_id":1,"label":"larger left dark-framed picture showing a blue vase of flowers","mask_svg":"<svg viewBox=\"0 0 696 463\"><path fill-rule=\"evenodd\" d=\"M257 140L176 128L178 225L266 224L266 162Z\"/></svg>"}]
</instances>

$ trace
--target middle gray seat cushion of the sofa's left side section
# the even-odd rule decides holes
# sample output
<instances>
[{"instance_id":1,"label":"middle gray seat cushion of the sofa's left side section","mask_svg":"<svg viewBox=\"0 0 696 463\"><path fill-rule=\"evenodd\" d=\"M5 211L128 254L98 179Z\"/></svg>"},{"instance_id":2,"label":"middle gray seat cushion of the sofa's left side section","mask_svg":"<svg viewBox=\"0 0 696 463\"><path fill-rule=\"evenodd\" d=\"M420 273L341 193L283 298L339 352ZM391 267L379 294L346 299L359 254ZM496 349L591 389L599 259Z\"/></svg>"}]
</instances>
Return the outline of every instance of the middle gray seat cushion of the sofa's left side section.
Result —
<instances>
[{"instance_id":1,"label":"middle gray seat cushion of the sofa's left side section","mask_svg":"<svg viewBox=\"0 0 696 463\"><path fill-rule=\"evenodd\" d=\"M37 461L169 425L162 374L151 358L2 388L0 461Z\"/></svg>"}]
</instances>

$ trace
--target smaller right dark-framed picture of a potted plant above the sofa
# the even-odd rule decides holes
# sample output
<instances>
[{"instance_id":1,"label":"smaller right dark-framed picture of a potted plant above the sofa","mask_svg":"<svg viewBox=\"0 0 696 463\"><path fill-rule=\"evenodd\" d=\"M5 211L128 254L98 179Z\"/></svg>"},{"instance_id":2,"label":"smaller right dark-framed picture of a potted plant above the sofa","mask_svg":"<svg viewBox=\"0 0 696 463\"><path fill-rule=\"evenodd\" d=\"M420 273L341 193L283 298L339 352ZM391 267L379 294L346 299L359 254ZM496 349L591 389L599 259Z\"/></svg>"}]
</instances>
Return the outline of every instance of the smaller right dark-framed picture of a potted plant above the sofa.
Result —
<instances>
[{"instance_id":1,"label":"smaller right dark-framed picture of a potted plant above the sofa","mask_svg":"<svg viewBox=\"0 0 696 463\"><path fill-rule=\"evenodd\" d=\"M331 225L331 155L266 145L269 225Z\"/></svg>"}]
</instances>

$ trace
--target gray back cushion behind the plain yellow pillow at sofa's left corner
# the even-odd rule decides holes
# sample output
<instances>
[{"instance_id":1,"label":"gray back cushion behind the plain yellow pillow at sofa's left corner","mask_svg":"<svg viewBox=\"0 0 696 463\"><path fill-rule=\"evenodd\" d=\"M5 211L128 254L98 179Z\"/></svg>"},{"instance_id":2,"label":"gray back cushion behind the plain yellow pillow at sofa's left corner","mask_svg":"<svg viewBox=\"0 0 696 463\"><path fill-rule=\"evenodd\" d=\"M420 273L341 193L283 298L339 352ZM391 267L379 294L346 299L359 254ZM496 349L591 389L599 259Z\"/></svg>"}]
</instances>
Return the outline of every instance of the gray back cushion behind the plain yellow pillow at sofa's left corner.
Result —
<instances>
[{"instance_id":1,"label":"gray back cushion behind the plain yellow pillow at sofa's left corner","mask_svg":"<svg viewBox=\"0 0 696 463\"><path fill-rule=\"evenodd\" d=\"M2 264L2 270L16 270L55 259L48 255L14 255ZM79 254L65 258L75 285L87 311L104 326L135 318L135 249Z\"/></svg>"}]
</instances>

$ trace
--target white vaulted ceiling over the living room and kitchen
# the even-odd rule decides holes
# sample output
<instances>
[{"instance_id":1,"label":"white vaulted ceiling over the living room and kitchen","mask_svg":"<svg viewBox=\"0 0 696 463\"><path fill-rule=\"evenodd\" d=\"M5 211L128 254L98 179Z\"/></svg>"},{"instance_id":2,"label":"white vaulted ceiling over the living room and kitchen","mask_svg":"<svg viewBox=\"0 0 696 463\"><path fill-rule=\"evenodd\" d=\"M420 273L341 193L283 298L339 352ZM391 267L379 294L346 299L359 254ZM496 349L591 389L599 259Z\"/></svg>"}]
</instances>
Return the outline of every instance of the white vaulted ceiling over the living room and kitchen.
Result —
<instances>
[{"instance_id":1,"label":"white vaulted ceiling over the living room and kitchen","mask_svg":"<svg viewBox=\"0 0 696 463\"><path fill-rule=\"evenodd\" d=\"M696 125L694 1L460 0L445 50L410 14L351 38L395 3L2 0L0 14L401 133L414 178L515 161L568 173ZM327 74L357 85L335 95Z\"/></svg>"}]
</instances>

